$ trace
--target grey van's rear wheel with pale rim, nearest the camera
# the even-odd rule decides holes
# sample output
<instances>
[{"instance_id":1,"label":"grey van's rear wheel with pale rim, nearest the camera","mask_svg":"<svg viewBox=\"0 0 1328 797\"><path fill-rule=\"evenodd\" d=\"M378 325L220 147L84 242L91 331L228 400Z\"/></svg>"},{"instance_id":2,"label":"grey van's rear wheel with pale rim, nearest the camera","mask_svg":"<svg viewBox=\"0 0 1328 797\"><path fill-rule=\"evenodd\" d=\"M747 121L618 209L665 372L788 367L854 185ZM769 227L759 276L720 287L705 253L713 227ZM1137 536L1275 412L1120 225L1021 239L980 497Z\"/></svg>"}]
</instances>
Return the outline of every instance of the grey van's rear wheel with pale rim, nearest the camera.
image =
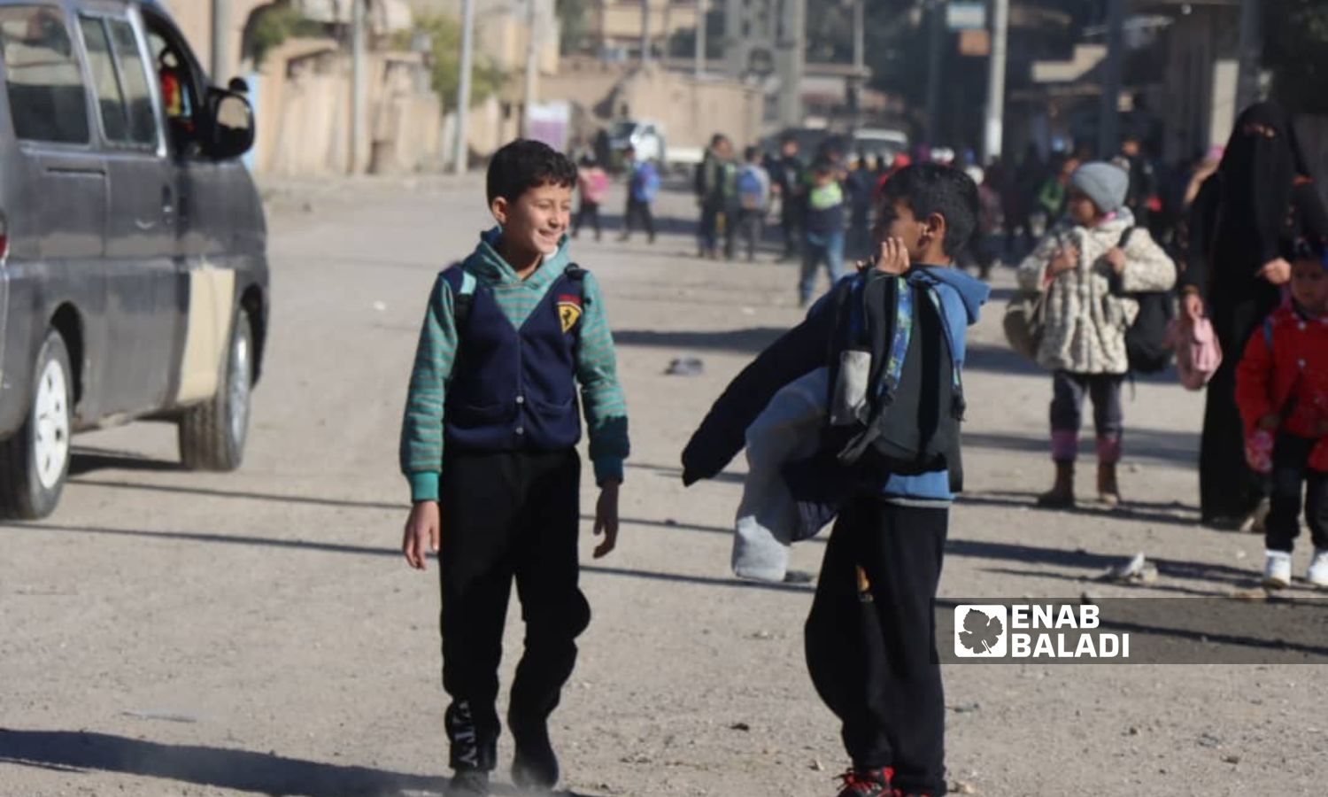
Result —
<instances>
[{"instance_id":1,"label":"grey van's rear wheel with pale rim, nearest the camera","mask_svg":"<svg viewBox=\"0 0 1328 797\"><path fill-rule=\"evenodd\" d=\"M74 381L65 339L54 329L32 373L28 417L0 441L0 517L21 521L53 513L69 477Z\"/></svg>"}]
</instances>

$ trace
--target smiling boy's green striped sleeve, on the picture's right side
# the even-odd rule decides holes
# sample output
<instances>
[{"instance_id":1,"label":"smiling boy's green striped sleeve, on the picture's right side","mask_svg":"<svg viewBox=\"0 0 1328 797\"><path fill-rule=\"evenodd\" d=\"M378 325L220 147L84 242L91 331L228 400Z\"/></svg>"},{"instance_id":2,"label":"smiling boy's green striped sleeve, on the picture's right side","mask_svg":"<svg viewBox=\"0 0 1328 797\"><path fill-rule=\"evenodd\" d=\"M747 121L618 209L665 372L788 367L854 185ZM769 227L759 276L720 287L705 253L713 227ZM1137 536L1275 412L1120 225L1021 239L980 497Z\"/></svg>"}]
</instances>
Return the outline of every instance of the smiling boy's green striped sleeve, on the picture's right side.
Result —
<instances>
[{"instance_id":1,"label":"smiling boy's green striped sleeve, on the picture's right side","mask_svg":"<svg viewBox=\"0 0 1328 797\"><path fill-rule=\"evenodd\" d=\"M580 384L582 410L590 437L590 460L595 466L595 484L623 481L623 461L631 453L627 436L627 398L618 381L618 356L614 333L608 328L604 298L590 272L583 282L586 312L576 341L576 381Z\"/></svg>"}]
</instances>

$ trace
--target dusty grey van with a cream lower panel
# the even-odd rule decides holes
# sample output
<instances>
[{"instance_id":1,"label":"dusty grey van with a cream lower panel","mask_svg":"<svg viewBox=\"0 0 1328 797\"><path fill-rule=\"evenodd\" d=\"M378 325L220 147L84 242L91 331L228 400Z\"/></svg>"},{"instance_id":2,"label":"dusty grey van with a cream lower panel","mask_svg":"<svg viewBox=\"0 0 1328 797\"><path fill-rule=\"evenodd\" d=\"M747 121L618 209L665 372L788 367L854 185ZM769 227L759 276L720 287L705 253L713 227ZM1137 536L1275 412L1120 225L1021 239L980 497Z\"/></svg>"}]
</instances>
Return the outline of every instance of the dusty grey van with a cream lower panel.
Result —
<instances>
[{"instance_id":1,"label":"dusty grey van with a cream lower panel","mask_svg":"<svg viewBox=\"0 0 1328 797\"><path fill-rule=\"evenodd\" d=\"M0 514L50 514L74 432L179 426L239 466L268 325L243 81L157 0L0 0Z\"/></svg>"}]
</instances>

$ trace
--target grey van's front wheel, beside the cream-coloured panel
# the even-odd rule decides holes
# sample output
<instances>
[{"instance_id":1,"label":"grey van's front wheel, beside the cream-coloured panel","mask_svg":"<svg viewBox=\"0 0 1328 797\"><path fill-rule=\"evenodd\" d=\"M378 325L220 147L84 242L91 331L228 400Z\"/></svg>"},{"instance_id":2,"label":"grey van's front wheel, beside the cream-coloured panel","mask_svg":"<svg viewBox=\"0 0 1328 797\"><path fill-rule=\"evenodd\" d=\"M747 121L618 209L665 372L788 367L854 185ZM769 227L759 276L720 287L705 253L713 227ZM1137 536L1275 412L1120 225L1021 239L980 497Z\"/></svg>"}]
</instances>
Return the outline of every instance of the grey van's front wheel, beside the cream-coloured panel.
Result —
<instances>
[{"instance_id":1,"label":"grey van's front wheel, beside the cream-coloured panel","mask_svg":"<svg viewBox=\"0 0 1328 797\"><path fill-rule=\"evenodd\" d=\"M254 329L239 308L216 395L179 418L179 458L189 470L235 470L244 458L254 387Z\"/></svg>"}]
</instances>

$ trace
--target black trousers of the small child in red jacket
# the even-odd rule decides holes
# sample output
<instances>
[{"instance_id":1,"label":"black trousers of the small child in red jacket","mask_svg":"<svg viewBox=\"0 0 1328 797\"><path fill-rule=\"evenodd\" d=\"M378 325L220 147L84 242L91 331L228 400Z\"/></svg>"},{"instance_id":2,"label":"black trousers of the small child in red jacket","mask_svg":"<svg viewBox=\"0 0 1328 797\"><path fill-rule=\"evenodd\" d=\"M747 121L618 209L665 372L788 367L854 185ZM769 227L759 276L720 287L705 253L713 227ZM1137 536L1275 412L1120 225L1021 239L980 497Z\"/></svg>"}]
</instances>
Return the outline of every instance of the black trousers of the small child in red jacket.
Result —
<instances>
[{"instance_id":1,"label":"black trousers of the small child in red jacket","mask_svg":"<svg viewBox=\"0 0 1328 797\"><path fill-rule=\"evenodd\" d=\"M1316 549L1328 550L1328 473L1309 470L1309 452L1317 438L1279 434L1272 446L1272 499L1264 545L1270 551L1292 551L1300 535L1300 497L1304 493L1305 525Z\"/></svg>"}]
</instances>

